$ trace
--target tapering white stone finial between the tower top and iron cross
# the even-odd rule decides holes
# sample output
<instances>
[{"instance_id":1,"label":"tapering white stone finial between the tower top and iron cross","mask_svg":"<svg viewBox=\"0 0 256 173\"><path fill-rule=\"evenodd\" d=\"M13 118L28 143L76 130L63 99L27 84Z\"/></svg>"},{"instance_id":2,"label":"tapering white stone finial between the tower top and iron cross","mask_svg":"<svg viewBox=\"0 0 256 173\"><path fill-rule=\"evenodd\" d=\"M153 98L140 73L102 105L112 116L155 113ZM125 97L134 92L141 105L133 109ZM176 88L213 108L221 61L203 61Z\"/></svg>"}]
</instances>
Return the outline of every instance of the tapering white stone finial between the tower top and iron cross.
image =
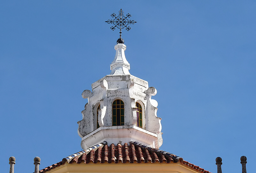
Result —
<instances>
[{"instance_id":1,"label":"tapering white stone finial between the tower top and iron cross","mask_svg":"<svg viewBox=\"0 0 256 173\"><path fill-rule=\"evenodd\" d=\"M130 64L126 60L124 51L126 50L126 45L118 43L115 45L116 56L114 61L110 64L110 75L130 75Z\"/></svg>"}]
</instances>

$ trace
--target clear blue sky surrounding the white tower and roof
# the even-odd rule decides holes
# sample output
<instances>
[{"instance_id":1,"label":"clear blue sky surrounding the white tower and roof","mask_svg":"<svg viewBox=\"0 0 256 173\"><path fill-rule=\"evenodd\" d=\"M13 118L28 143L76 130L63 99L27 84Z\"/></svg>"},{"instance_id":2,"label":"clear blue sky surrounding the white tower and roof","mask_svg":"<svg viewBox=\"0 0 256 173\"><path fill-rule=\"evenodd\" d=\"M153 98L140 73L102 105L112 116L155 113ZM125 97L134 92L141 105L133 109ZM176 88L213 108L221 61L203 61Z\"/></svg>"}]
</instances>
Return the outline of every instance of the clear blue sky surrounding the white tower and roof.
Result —
<instances>
[{"instance_id":1,"label":"clear blue sky surrounding the white tower and roof","mask_svg":"<svg viewBox=\"0 0 256 173\"><path fill-rule=\"evenodd\" d=\"M2 1L1 172L33 172L81 150L83 90L110 73L122 8L130 73L157 89L160 149L216 173L254 172L255 1Z\"/></svg>"}]
</instances>

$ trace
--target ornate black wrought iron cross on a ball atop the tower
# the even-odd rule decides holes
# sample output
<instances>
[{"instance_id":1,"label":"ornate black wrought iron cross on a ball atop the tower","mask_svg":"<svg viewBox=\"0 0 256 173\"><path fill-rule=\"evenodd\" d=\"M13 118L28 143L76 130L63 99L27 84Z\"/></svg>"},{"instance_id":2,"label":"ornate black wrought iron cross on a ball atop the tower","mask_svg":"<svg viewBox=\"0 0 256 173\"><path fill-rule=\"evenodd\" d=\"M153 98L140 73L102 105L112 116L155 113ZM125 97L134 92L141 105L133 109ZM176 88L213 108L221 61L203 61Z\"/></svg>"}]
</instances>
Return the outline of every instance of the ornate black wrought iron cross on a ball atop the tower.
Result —
<instances>
[{"instance_id":1,"label":"ornate black wrought iron cross on a ball atop the tower","mask_svg":"<svg viewBox=\"0 0 256 173\"><path fill-rule=\"evenodd\" d=\"M119 15L116 16L115 13L112 13L111 16L114 18L113 20L107 20L105 22L107 23L111 23L111 24L114 24L114 26L111 26L110 29L112 29L113 31L116 29L116 28L119 28L120 29L120 38L116 41L116 43L124 43L124 40L121 38L121 30L123 28L125 28L127 31L129 31L131 29L130 26L128 26L129 24L134 24L134 23L137 23L135 22L134 20L129 20L128 18L130 18L132 15L130 13L126 14L126 17L124 17L124 11L121 9L119 11Z\"/></svg>"}]
</instances>

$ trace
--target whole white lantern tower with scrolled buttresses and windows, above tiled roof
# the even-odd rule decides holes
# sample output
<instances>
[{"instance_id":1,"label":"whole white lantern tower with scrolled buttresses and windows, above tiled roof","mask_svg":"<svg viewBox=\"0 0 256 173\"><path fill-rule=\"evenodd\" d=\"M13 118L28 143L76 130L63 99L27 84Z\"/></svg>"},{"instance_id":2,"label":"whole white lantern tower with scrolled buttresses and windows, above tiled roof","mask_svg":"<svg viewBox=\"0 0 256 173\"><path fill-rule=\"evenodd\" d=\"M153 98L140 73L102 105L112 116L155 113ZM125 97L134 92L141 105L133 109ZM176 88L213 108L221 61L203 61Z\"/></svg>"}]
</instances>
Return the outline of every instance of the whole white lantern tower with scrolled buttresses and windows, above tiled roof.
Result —
<instances>
[{"instance_id":1,"label":"whole white lantern tower with scrolled buttresses and windows, above tiled roof","mask_svg":"<svg viewBox=\"0 0 256 173\"><path fill-rule=\"evenodd\" d=\"M156 115L157 101L151 99L156 89L130 74L124 54L126 45L118 40L110 75L92 83L92 91L82 93L88 103L78 122L81 147L86 149L103 141L123 145L134 140L158 149L163 139L161 118Z\"/></svg>"}]
</instances>

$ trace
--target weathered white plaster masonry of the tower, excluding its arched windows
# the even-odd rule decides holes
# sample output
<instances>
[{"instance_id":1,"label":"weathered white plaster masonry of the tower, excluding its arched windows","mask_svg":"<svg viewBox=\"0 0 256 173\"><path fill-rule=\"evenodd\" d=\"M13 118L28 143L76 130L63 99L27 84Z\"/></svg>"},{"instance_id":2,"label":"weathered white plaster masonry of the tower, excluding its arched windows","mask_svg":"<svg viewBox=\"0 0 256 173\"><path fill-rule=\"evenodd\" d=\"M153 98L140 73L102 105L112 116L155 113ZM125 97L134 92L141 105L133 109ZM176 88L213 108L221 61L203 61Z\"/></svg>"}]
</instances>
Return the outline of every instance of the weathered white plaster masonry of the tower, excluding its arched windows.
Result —
<instances>
[{"instance_id":1,"label":"weathered white plaster masonry of the tower, excluding its arched windows","mask_svg":"<svg viewBox=\"0 0 256 173\"><path fill-rule=\"evenodd\" d=\"M92 83L92 91L84 90L84 92L82 93L83 98L88 99L88 103L85 106L85 109L82 111L83 119L77 122L79 124L78 134L83 139L83 146L87 146L94 142L96 142L95 144L97 144L98 139L93 140L94 142L89 141L89 139L92 140L92 138L96 138L95 135L90 136L90 134L92 134L93 132L97 132L97 138L99 138L99 140L116 141L118 140L116 137L118 137L123 138L124 140L132 139L135 141L141 141L145 144L155 146L157 139L156 146L160 147L162 145L162 126L160 122L161 118L157 117L156 115L157 101L151 99L151 96L154 96L156 94L156 89L154 87L149 88L147 81L130 75L129 71L123 73L124 71L128 70L129 65L128 61L125 59L124 56L124 50L126 49L126 46L118 44L115 46L115 49L117 52L116 57L111 63L111 74L114 75L104 76L100 80ZM122 59L124 61L122 61ZM123 72L119 71L119 69L123 69ZM121 99L124 102L124 126L112 126L112 103L116 99ZM128 135L128 133L122 134L120 133L120 128L122 129L127 126L130 127L131 125L136 126L136 102L139 102L141 104L143 114L142 129L136 127L136 129L140 131L140 133L138 133L140 135ZM100 110L98 119L100 129L109 126L111 126L112 128L112 130L104 129L104 136L100 136L100 134L103 134L103 132L101 133L100 130L97 129L96 116L97 107L99 104ZM135 126L131 126L131 128L135 128ZM113 130L115 129L115 127L119 129L119 131ZM148 130L149 132L154 133L154 138L146 138L148 134L146 134L146 132L143 130ZM111 133L111 138L106 137L106 134L108 133ZM144 137L141 134L144 134Z\"/></svg>"}]
</instances>

